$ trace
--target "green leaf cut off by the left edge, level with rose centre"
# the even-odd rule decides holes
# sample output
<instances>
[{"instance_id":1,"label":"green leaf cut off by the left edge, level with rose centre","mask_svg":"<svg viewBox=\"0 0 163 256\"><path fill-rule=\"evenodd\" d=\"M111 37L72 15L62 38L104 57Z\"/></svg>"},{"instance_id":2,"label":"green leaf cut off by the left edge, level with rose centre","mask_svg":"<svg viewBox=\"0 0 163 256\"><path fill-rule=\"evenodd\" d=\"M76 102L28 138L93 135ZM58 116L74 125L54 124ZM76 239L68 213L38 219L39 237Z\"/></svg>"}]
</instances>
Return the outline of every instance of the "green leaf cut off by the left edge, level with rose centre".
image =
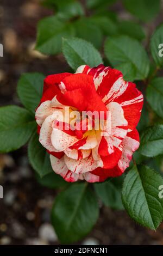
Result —
<instances>
[{"instance_id":1,"label":"green leaf cut off by the left edge, level with rose centre","mask_svg":"<svg viewBox=\"0 0 163 256\"><path fill-rule=\"evenodd\" d=\"M36 129L33 116L24 108L0 108L0 152L7 153L22 147Z\"/></svg>"}]
</instances>

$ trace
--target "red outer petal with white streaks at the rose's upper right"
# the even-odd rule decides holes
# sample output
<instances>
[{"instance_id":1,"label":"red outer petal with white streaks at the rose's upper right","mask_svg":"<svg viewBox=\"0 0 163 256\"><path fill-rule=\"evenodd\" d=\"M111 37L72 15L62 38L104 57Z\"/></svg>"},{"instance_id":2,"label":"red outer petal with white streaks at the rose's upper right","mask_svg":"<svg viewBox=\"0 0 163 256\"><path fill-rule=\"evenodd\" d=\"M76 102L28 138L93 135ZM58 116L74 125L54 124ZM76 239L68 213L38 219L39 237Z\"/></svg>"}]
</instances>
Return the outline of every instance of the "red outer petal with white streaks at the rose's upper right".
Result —
<instances>
[{"instance_id":1,"label":"red outer petal with white streaks at the rose's upper right","mask_svg":"<svg viewBox=\"0 0 163 256\"><path fill-rule=\"evenodd\" d=\"M92 69L83 65L76 72L92 75L97 94L101 96L103 102L106 105L111 101L120 103L124 117L128 121L128 129L135 129L140 120L143 95L136 89L134 83L124 81L120 71L103 65Z\"/></svg>"}]
</instances>

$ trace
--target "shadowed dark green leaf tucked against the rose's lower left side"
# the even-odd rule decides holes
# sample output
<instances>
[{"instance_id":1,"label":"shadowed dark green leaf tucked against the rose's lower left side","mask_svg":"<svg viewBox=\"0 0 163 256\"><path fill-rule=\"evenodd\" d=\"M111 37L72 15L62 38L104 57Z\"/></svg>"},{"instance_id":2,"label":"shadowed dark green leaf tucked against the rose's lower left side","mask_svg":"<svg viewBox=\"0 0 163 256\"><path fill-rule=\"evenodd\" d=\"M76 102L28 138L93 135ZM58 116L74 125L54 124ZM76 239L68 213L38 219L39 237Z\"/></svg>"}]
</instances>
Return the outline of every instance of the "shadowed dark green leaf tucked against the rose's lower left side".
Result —
<instances>
[{"instance_id":1,"label":"shadowed dark green leaf tucked against the rose's lower left side","mask_svg":"<svg viewBox=\"0 0 163 256\"><path fill-rule=\"evenodd\" d=\"M49 173L53 173L49 154L39 142L39 135L36 132L33 134L28 145L28 157L30 164L41 178Z\"/></svg>"}]
</instances>

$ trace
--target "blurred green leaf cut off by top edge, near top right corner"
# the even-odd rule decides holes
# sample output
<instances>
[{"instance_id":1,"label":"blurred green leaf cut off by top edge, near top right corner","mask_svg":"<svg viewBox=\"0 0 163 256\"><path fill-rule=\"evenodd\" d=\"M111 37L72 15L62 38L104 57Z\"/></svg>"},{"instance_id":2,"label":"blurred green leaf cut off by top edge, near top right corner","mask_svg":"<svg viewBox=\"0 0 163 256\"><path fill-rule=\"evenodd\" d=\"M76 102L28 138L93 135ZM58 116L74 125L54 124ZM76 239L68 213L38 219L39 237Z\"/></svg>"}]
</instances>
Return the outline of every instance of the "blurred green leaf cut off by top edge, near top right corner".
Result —
<instances>
[{"instance_id":1,"label":"blurred green leaf cut off by top edge, near top right corner","mask_svg":"<svg viewBox=\"0 0 163 256\"><path fill-rule=\"evenodd\" d=\"M123 0L124 7L142 21L152 20L160 10L160 0Z\"/></svg>"}]
</instances>

